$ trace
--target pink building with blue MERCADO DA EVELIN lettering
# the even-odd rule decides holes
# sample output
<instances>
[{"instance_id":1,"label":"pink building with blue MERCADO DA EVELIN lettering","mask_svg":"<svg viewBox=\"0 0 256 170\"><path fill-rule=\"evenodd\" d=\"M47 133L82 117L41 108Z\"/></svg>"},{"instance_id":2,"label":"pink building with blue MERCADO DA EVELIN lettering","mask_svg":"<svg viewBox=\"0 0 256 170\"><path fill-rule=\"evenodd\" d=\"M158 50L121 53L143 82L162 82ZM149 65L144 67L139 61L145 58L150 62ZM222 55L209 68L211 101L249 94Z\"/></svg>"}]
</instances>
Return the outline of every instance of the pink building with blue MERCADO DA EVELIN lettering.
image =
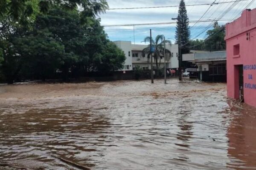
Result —
<instances>
[{"instance_id":1,"label":"pink building with blue MERCADO DA EVELIN lettering","mask_svg":"<svg viewBox=\"0 0 256 170\"><path fill-rule=\"evenodd\" d=\"M227 95L256 107L256 8L226 26Z\"/></svg>"}]
</instances>

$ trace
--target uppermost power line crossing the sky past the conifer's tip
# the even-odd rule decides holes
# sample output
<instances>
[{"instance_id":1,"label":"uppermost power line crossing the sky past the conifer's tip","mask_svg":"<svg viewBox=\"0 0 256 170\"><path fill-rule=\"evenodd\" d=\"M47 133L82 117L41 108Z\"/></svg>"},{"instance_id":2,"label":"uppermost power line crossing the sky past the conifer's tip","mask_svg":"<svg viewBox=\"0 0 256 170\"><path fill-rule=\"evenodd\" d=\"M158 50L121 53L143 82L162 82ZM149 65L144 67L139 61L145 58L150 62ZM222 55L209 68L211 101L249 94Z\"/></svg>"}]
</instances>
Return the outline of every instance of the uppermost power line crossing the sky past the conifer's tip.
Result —
<instances>
[{"instance_id":1,"label":"uppermost power line crossing the sky past the conifer's tip","mask_svg":"<svg viewBox=\"0 0 256 170\"><path fill-rule=\"evenodd\" d=\"M247 1L247 0L239 0L240 1ZM212 5L218 5L218 4L223 4L223 3L233 3L236 1L227 1L227 2L221 2L221 3L202 3L202 4L191 4L191 5L186 5L186 6L212 6ZM132 7L132 8L108 8L108 10L122 10L122 9L149 9L149 8L172 8L172 7L178 7L177 5L175 6L150 6L150 7Z\"/></svg>"}]
</instances>

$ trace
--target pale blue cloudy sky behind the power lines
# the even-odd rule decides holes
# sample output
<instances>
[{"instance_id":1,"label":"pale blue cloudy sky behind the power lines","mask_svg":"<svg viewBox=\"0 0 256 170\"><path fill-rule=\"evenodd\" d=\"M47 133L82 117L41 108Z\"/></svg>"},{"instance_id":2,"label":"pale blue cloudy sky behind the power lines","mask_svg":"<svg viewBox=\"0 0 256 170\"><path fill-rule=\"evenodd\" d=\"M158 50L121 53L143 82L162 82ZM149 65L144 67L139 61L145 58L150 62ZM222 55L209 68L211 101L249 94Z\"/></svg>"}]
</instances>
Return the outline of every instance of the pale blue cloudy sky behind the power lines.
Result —
<instances>
[{"instance_id":1,"label":"pale blue cloudy sky behind the power lines","mask_svg":"<svg viewBox=\"0 0 256 170\"><path fill-rule=\"evenodd\" d=\"M179 0L107 0L109 8L132 8L132 7L152 7L152 6L177 6ZM236 0L185 0L186 5L205 4L205 3L222 3ZM250 3L252 4L248 6ZM248 7L247 7L248 6ZM244 8L256 8L256 0L244 0L240 2L224 3L218 5L205 6L187 6L187 13L190 21L199 20L207 11L201 20L221 19L219 25L234 20L239 17ZM102 19L102 25L112 41L125 40L136 44L143 44L144 37L149 36L149 29L152 29L152 35L164 34L174 42L175 24L169 25L150 25L150 26L116 26L122 24L141 24L141 23L166 23L172 22L172 17L177 17L178 7L169 8L149 8L149 9L122 9L108 10L99 17ZM190 23L191 38L204 39L206 31L213 22Z\"/></svg>"}]
</instances>

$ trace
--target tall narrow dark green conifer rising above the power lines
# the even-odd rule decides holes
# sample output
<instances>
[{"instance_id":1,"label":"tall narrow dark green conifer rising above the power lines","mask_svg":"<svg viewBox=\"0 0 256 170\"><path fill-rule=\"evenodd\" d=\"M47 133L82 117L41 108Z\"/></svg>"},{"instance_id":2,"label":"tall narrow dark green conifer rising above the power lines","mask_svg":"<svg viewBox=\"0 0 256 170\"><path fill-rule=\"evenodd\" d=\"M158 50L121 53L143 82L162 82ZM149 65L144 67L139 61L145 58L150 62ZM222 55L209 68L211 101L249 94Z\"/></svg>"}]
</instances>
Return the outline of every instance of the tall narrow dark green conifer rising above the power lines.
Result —
<instances>
[{"instance_id":1,"label":"tall narrow dark green conifer rising above the power lines","mask_svg":"<svg viewBox=\"0 0 256 170\"><path fill-rule=\"evenodd\" d=\"M180 42L181 54L189 53L189 40L190 40L190 27L189 27L189 17L187 16L186 5L184 0L180 0L180 6L177 17L177 26L175 32L176 44ZM179 35L180 33L180 35ZM184 45L184 46L183 46Z\"/></svg>"}]
</instances>

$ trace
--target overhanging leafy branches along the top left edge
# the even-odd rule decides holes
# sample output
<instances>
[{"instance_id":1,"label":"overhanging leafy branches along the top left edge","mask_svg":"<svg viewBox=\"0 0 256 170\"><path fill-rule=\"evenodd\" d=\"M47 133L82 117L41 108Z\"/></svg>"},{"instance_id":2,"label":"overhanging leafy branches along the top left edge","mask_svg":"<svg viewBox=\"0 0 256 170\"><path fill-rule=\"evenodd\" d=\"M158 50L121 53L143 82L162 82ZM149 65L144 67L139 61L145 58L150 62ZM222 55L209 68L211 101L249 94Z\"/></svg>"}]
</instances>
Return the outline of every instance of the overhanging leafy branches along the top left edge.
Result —
<instances>
[{"instance_id":1,"label":"overhanging leafy branches along the top left edge","mask_svg":"<svg viewBox=\"0 0 256 170\"><path fill-rule=\"evenodd\" d=\"M47 12L51 7L77 9L81 11L84 21L104 12L108 8L106 0L0 0L0 17L11 17L22 21L38 11Z\"/></svg>"}]
</instances>

